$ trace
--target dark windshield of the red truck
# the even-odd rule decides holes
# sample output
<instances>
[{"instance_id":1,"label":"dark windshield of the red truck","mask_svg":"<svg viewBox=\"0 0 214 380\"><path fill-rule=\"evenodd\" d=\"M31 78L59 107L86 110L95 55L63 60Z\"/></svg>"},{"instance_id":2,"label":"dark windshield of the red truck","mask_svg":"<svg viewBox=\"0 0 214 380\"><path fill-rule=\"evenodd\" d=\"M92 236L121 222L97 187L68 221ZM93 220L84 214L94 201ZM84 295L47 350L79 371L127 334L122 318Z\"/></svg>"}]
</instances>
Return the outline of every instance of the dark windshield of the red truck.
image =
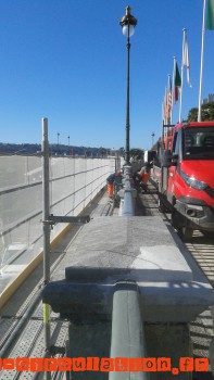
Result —
<instances>
[{"instance_id":1,"label":"dark windshield of the red truck","mask_svg":"<svg viewBox=\"0 0 214 380\"><path fill-rule=\"evenodd\" d=\"M185 160L213 160L214 128L186 128L184 130L182 153Z\"/></svg>"}]
</instances>

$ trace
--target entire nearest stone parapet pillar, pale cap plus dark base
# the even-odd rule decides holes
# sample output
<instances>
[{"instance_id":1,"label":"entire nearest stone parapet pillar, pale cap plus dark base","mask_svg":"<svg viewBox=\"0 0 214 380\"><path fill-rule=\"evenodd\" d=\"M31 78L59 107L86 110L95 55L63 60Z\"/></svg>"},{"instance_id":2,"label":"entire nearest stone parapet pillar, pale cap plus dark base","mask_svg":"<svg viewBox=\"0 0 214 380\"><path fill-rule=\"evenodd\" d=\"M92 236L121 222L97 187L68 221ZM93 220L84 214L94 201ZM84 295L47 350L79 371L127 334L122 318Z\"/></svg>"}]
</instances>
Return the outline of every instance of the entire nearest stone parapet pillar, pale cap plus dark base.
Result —
<instances>
[{"instance_id":1,"label":"entire nearest stone parapet pillar, pale cap plus dark base","mask_svg":"<svg viewBox=\"0 0 214 380\"><path fill-rule=\"evenodd\" d=\"M160 217L91 220L70 246L53 280L46 286L42 299L61 317L72 321L68 357L111 356L115 290L118 281L137 283L147 357L171 360L169 371L150 372L150 380L168 380L173 378L172 370L179 373L179 358L192 357L188 322L214 304L211 284L171 226L166 227ZM121 295L126 296L127 290ZM123 321L121 316L117 325L119 318L118 331L127 329L126 319ZM138 339L135 337L135 342ZM122 353L126 355L125 351ZM146 353L139 355L143 358ZM121 372L122 379L124 375ZM136 372L135 379L141 376ZM192 378L191 372L180 372L178 377ZM109 373L73 372L72 378L106 380Z\"/></svg>"}]
</instances>

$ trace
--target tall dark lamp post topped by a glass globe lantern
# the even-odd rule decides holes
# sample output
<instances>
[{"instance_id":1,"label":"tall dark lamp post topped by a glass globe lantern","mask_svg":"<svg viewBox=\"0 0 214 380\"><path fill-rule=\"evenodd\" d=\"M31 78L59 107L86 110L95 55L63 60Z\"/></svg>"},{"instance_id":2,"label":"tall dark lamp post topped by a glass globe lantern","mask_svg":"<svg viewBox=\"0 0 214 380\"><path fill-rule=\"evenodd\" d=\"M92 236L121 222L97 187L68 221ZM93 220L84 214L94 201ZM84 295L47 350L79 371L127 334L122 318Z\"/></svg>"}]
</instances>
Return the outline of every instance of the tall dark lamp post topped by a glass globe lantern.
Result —
<instances>
[{"instance_id":1,"label":"tall dark lamp post topped by a glass globe lantern","mask_svg":"<svg viewBox=\"0 0 214 380\"><path fill-rule=\"evenodd\" d=\"M130 132L130 118L129 118L129 103L130 103L130 37L135 33L135 27L137 25L137 18L130 14L130 7L126 7L126 14L119 21L124 36L127 37L127 92L126 92L126 144L125 144L125 165L129 165L129 132Z\"/></svg>"}]
</instances>

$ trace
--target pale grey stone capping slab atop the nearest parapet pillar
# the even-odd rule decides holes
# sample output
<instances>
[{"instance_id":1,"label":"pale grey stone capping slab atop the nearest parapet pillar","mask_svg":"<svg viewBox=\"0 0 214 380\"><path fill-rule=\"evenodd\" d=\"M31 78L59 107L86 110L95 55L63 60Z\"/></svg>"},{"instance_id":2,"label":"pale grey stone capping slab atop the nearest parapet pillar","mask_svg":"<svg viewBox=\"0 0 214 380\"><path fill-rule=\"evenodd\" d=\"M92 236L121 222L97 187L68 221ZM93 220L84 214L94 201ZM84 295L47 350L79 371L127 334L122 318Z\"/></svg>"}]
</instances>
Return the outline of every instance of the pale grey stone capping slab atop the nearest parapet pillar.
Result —
<instances>
[{"instance_id":1,"label":"pale grey stone capping slab atop the nearest parapet pillar","mask_svg":"<svg viewBox=\"0 0 214 380\"><path fill-rule=\"evenodd\" d=\"M46 287L43 302L71 319L111 319L116 281L133 280L143 320L193 320L214 304L214 292L169 229L160 217L96 218L70 248L65 279Z\"/></svg>"}]
</instances>

